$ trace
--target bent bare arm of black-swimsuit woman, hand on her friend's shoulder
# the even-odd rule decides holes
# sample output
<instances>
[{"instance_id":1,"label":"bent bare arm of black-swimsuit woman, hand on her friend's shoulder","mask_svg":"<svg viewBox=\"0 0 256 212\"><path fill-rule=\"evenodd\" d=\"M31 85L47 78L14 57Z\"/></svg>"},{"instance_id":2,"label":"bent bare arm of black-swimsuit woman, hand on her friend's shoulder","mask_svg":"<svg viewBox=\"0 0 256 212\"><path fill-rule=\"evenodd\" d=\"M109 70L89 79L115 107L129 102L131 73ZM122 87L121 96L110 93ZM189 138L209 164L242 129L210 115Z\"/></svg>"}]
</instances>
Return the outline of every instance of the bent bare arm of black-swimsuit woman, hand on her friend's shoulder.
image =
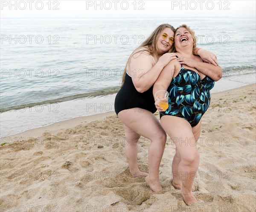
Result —
<instances>
[{"instance_id":1,"label":"bent bare arm of black-swimsuit woman, hand on her friend's shoulder","mask_svg":"<svg viewBox=\"0 0 256 212\"><path fill-rule=\"evenodd\" d=\"M175 58L175 53L166 53L153 66L151 55L141 52L134 54L131 58L129 74L136 90L140 93L148 90L157 80L163 68Z\"/></svg>"}]
</instances>

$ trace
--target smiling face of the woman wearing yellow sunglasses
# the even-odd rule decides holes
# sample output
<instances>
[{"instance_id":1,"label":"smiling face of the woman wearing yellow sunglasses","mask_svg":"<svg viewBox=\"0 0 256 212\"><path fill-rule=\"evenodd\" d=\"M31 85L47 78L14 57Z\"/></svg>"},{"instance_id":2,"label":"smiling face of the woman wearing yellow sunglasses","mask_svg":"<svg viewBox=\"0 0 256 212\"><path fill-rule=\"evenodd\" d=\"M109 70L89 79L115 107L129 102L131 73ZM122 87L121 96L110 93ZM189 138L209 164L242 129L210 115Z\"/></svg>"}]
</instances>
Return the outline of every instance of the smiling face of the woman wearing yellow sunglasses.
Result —
<instances>
[{"instance_id":1,"label":"smiling face of the woman wearing yellow sunglasses","mask_svg":"<svg viewBox=\"0 0 256 212\"><path fill-rule=\"evenodd\" d=\"M168 37L166 39L164 39L162 37L163 33L167 34ZM166 28L163 29L162 32L160 32L159 37L157 39L157 51L158 51L158 54L163 54L164 52L166 52L169 49L171 49L173 44L169 41L170 37L174 37L174 32L172 31L172 29L166 27Z\"/></svg>"}]
</instances>

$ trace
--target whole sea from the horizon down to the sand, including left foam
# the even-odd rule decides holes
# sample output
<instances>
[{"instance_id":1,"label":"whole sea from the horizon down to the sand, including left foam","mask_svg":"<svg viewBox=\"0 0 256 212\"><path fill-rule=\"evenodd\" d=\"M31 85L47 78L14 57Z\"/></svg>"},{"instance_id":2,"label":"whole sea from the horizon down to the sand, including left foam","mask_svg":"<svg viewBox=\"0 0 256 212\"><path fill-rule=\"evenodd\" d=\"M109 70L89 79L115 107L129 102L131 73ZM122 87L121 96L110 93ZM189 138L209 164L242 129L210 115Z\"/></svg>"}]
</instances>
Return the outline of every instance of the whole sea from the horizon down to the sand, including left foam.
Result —
<instances>
[{"instance_id":1,"label":"whole sea from the horizon down to the sand, including left foam","mask_svg":"<svg viewBox=\"0 0 256 212\"><path fill-rule=\"evenodd\" d=\"M255 18L2 18L1 137L114 110L129 55L162 23L190 26L198 47L218 56L224 79L255 82Z\"/></svg>"}]
</instances>

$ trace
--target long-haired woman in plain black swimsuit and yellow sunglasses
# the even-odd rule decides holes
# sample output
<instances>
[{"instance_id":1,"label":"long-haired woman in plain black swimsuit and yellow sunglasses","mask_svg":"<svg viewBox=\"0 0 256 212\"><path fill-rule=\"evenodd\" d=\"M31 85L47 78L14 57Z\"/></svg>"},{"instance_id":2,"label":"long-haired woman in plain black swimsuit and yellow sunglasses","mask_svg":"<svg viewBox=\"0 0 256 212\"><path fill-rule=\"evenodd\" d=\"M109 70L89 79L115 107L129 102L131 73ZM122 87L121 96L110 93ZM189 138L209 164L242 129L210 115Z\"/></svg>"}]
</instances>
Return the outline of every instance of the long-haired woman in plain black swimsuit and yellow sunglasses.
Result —
<instances>
[{"instance_id":1,"label":"long-haired woman in plain black swimsuit and yellow sunglasses","mask_svg":"<svg viewBox=\"0 0 256 212\"><path fill-rule=\"evenodd\" d=\"M153 85L163 68L173 59L173 26L162 24L130 56L125 66L122 87L116 95L115 111L122 121L128 145L125 146L130 172L133 177L144 176L154 192L162 187L159 182L159 166L166 144L166 133L154 116L156 108L152 96ZM204 60L217 64L211 52L196 49ZM140 136L151 140L148 148L149 173L137 165L137 142Z\"/></svg>"}]
</instances>

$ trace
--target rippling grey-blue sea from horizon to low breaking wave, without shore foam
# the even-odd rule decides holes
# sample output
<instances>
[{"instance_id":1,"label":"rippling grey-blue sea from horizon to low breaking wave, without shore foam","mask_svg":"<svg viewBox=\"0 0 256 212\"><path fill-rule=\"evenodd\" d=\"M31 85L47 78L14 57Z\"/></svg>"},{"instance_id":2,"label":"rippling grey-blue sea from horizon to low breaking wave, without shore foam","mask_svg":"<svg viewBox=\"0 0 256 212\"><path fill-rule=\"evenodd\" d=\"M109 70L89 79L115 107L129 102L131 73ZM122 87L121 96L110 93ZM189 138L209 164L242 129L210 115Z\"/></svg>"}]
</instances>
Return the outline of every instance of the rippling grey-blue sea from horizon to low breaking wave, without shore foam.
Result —
<instances>
[{"instance_id":1,"label":"rippling grey-blue sea from horizon to low breaking wave, without shore foam","mask_svg":"<svg viewBox=\"0 0 256 212\"><path fill-rule=\"evenodd\" d=\"M162 23L174 27L187 23L201 36L197 45L217 55L225 76L255 73L255 19L251 18L1 19L1 35L14 38L13 29L17 37L34 35L32 44L0 40L1 112L12 110L9 105L87 98L96 90L105 95L104 90L119 86L131 52ZM42 44L35 42L37 35L44 38ZM54 44L55 35L59 44ZM87 39L95 35L102 39ZM104 40L109 37L110 44Z\"/></svg>"}]
</instances>

